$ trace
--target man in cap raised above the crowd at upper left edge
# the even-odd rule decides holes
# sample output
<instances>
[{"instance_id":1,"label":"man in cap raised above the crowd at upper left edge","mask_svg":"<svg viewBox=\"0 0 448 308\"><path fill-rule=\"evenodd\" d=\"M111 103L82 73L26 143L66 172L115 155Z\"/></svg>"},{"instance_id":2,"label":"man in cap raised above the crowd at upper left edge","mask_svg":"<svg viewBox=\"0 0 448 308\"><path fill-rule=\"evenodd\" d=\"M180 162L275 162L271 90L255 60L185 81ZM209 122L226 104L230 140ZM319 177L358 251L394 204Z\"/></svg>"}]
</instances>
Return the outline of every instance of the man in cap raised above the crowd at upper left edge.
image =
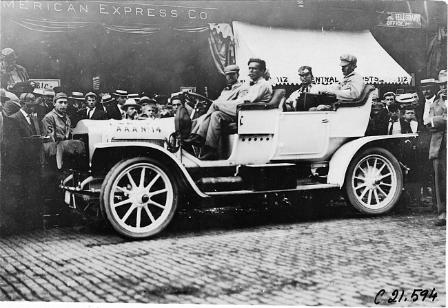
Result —
<instances>
[{"instance_id":1,"label":"man in cap raised above the crowd at upper left edge","mask_svg":"<svg viewBox=\"0 0 448 308\"><path fill-rule=\"evenodd\" d=\"M7 80L7 90L12 89L16 83L30 79L25 67L16 64L16 53L12 48L1 50L0 78Z\"/></svg>"}]
</instances>

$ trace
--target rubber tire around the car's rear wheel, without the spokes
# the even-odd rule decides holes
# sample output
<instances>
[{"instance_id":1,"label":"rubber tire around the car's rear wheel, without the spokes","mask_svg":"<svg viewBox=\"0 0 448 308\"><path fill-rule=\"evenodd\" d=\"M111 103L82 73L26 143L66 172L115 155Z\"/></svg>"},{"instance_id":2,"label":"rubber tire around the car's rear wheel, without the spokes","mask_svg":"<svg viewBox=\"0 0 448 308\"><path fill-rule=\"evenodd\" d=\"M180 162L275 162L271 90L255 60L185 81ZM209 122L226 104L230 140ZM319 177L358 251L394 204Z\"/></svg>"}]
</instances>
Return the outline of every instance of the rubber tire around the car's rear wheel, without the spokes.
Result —
<instances>
[{"instance_id":1,"label":"rubber tire around the car's rear wheel, without the spokes","mask_svg":"<svg viewBox=\"0 0 448 308\"><path fill-rule=\"evenodd\" d=\"M383 159L387 160L389 164L391 164L392 168L394 169L396 173L397 178L397 187L396 191L394 192L393 197L391 200L383 207L378 209L371 209L366 208L362 203L358 201L358 199L355 197L356 192L352 188L352 175L354 173L354 169L358 165L358 163L364 159L365 157L369 155L379 155L383 157ZM385 148L365 148L364 150L357 153L354 158L352 159L352 162L350 162L349 167L347 168L347 173L345 173L345 184L344 184L345 192L347 193L347 197L349 199L349 203L356 208L356 210L359 210L360 212L363 212L365 214L370 215L380 215L385 214L389 212L396 204L398 203L398 200L400 199L401 192L403 190L403 172L401 170L400 164L398 163L398 160L396 157L387 151Z\"/></svg>"}]
</instances>

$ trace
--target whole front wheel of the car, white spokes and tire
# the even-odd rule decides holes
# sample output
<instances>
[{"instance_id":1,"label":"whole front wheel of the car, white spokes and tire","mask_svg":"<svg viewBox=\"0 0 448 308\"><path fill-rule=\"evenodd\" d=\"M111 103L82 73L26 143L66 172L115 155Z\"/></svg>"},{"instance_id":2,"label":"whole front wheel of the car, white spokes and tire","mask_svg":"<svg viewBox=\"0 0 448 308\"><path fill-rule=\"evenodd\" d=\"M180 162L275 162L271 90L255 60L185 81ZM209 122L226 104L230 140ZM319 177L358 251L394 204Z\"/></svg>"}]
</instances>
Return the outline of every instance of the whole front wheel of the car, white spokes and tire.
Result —
<instances>
[{"instance_id":1,"label":"whole front wheel of the car, white spokes and tire","mask_svg":"<svg viewBox=\"0 0 448 308\"><path fill-rule=\"evenodd\" d=\"M154 159L124 159L103 181L101 211L119 234L132 239L148 238L172 220L178 191L174 175Z\"/></svg>"}]
</instances>

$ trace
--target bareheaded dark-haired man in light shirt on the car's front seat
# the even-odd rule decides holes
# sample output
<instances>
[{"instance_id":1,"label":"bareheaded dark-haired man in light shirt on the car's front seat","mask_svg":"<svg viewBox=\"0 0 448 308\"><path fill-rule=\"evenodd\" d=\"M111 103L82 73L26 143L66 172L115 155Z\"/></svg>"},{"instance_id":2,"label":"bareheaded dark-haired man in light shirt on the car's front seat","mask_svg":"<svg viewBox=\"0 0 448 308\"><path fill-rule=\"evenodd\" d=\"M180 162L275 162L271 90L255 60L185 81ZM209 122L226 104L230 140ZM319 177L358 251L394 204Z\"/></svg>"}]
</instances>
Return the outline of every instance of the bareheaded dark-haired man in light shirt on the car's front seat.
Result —
<instances>
[{"instance_id":1,"label":"bareheaded dark-haired man in light shirt on the car's front seat","mask_svg":"<svg viewBox=\"0 0 448 308\"><path fill-rule=\"evenodd\" d=\"M196 133L185 140L187 145L204 145L203 153L199 157L201 160L217 158L218 142L221 137L221 121L235 122L238 104L243 102L269 102L272 98L272 86L263 78L263 74L266 72L265 61L251 58L247 64L249 65L249 76L252 80L248 87L245 86L247 87L247 94L238 96L236 100L215 100L205 113L205 117L210 117L210 120L204 120Z\"/></svg>"}]
</instances>

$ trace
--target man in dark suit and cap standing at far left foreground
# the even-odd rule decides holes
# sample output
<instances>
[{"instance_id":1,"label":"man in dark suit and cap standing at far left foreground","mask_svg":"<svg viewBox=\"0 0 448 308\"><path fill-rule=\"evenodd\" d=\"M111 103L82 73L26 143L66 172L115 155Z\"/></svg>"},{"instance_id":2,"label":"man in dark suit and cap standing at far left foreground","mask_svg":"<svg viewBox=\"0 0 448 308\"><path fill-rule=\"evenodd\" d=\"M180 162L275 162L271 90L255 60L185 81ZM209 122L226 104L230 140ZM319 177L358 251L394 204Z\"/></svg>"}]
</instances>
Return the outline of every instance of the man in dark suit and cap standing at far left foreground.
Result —
<instances>
[{"instance_id":1,"label":"man in dark suit and cap standing at far left foreground","mask_svg":"<svg viewBox=\"0 0 448 308\"><path fill-rule=\"evenodd\" d=\"M1 206L1 232L16 233L41 228L42 137L34 107L36 96L23 96L22 108L4 118L5 162L4 201Z\"/></svg>"}]
</instances>

